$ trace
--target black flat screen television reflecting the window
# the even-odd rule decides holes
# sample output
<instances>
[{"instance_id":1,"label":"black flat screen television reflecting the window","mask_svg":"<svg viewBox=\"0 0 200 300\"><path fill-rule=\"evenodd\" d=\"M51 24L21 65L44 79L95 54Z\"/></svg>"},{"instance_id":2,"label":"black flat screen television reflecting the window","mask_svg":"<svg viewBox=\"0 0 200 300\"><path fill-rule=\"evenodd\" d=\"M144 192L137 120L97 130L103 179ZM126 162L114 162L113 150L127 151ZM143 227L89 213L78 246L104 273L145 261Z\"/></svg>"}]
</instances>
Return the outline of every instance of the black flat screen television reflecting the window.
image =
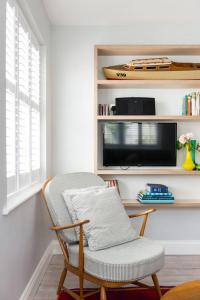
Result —
<instances>
[{"instance_id":1,"label":"black flat screen television reflecting the window","mask_svg":"<svg viewBox=\"0 0 200 300\"><path fill-rule=\"evenodd\" d=\"M176 166L177 123L105 122L104 166Z\"/></svg>"}]
</instances>

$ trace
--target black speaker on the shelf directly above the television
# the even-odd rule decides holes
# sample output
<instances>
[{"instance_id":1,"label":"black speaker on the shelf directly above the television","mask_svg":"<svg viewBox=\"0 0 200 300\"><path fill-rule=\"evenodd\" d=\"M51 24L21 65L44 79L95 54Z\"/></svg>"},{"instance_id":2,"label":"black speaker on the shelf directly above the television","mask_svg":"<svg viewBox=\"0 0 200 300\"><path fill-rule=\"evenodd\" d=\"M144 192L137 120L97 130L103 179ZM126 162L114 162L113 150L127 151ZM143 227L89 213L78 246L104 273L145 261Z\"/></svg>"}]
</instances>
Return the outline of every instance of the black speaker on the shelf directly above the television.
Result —
<instances>
[{"instance_id":1,"label":"black speaker on the shelf directly above the television","mask_svg":"<svg viewBox=\"0 0 200 300\"><path fill-rule=\"evenodd\" d=\"M155 115L155 98L116 98L116 115Z\"/></svg>"}]
</instances>

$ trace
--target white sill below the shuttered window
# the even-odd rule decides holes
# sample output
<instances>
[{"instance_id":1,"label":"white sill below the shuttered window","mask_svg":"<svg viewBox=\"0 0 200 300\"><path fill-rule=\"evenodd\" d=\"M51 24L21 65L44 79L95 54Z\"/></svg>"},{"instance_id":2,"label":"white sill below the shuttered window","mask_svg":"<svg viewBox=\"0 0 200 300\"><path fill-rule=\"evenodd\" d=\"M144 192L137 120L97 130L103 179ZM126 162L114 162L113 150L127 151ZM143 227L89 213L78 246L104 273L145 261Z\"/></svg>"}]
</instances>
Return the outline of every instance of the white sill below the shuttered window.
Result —
<instances>
[{"instance_id":1,"label":"white sill below the shuttered window","mask_svg":"<svg viewBox=\"0 0 200 300\"><path fill-rule=\"evenodd\" d=\"M15 208L17 208L19 205L26 202L28 199L30 199L32 196L37 194L42 187L42 183L39 182L37 184L34 184L31 187L28 187L27 189L24 189L23 191L20 191L17 194L14 194L7 198L7 203L3 207L2 215L7 216L10 212L12 212Z\"/></svg>"}]
</instances>

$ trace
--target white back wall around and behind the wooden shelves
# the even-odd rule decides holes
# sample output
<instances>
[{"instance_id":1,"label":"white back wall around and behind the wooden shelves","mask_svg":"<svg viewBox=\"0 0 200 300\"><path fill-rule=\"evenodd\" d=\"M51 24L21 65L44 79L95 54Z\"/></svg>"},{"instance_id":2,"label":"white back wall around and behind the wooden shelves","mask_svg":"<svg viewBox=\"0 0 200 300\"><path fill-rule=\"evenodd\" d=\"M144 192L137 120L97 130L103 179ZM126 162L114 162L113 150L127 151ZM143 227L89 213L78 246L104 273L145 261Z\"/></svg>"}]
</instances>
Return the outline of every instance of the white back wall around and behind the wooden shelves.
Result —
<instances>
[{"instance_id":1,"label":"white back wall around and behind the wooden shelves","mask_svg":"<svg viewBox=\"0 0 200 300\"><path fill-rule=\"evenodd\" d=\"M54 27L52 32L52 126L53 173L93 171L93 50L95 44L200 44L193 24L137 24L134 27ZM123 91L131 94L133 91ZM148 95L137 90L137 95ZM158 99L160 113L177 113L185 90L151 90ZM102 102L117 95L101 91ZM120 96L124 95L120 92ZM118 95L119 96L119 95ZM164 102L165 101L165 102ZM168 102L168 105L166 105ZM196 126L196 127L194 127ZM198 127L197 127L198 126ZM199 125L179 126L179 133L197 132ZM197 132L198 133L198 132ZM200 138L200 136L199 136ZM183 154L182 154L183 155ZM179 155L181 161L181 155ZM199 178L193 177L118 177L124 198L134 198L149 181L166 183L177 199L199 198ZM198 240L199 211L196 209L160 210L152 216L148 234L162 240Z\"/></svg>"}]
</instances>

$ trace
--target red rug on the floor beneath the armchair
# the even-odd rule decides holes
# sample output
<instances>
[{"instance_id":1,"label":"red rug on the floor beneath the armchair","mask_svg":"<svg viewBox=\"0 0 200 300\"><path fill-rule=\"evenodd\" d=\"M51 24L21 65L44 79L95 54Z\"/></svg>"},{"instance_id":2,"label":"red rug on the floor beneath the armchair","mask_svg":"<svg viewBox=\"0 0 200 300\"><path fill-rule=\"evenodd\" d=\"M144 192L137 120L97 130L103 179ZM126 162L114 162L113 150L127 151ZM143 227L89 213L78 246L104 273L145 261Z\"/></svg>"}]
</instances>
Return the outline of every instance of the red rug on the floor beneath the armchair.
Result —
<instances>
[{"instance_id":1,"label":"red rug on the floor beneath the armchair","mask_svg":"<svg viewBox=\"0 0 200 300\"><path fill-rule=\"evenodd\" d=\"M164 295L171 287L162 287L161 292ZM87 292L90 290L86 290ZM158 300L158 296L154 289L129 288L113 289L106 292L107 300ZM87 297L88 300L99 300L99 294ZM71 296L62 292L58 300L74 300Z\"/></svg>"}]
</instances>

